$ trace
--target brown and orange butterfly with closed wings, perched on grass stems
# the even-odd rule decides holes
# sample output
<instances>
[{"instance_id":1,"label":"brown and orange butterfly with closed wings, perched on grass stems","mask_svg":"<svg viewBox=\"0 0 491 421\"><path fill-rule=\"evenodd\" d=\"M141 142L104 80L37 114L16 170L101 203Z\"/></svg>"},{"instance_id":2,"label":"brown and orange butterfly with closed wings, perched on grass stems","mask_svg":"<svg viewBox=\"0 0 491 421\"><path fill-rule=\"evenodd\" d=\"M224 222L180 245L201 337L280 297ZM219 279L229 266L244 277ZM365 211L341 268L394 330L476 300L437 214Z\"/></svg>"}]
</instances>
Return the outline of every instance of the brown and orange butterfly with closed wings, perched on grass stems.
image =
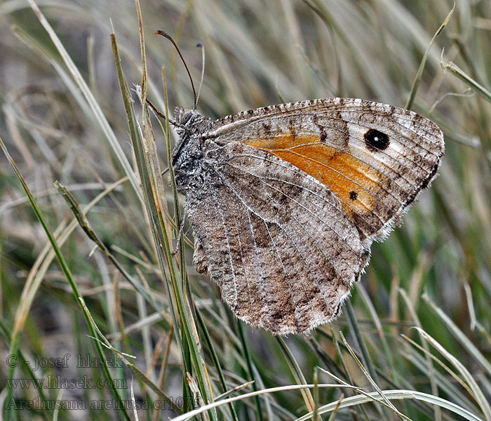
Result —
<instances>
[{"instance_id":1,"label":"brown and orange butterfly with closed wings, perched on grass stems","mask_svg":"<svg viewBox=\"0 0 491 421\"><path fill-rule=\"evenodd\" d=\"M335 319L370 259L436 177L443 133L391 105L328 98L211 121L176 110L177 188L193 263L232 312L278 335Z\"/></svg>"}]
</instances>

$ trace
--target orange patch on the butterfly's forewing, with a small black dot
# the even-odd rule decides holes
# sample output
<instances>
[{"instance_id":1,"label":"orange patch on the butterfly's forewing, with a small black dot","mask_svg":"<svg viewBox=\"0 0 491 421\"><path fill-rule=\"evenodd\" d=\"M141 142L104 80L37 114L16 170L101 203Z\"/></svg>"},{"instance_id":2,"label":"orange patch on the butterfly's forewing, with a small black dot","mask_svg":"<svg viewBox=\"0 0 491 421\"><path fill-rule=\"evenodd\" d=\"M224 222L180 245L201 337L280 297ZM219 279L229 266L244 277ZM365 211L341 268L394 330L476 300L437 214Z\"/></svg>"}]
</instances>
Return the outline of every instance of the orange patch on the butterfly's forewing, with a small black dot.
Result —
<instances>
[{"instance_id":1,"label":"orange patch on the butterfly's forewing, with a small black dot","mask_svg":"<svg viewBox=\"0 0 491 421\"><path fill-rule=\"evenodd\" d=\"M278 135L244 143L264 149L322 182L349 215L375 208L373 194L380 188L381 174L344 150L325 145L318 135Z\"/></svg>"}]
</instances>

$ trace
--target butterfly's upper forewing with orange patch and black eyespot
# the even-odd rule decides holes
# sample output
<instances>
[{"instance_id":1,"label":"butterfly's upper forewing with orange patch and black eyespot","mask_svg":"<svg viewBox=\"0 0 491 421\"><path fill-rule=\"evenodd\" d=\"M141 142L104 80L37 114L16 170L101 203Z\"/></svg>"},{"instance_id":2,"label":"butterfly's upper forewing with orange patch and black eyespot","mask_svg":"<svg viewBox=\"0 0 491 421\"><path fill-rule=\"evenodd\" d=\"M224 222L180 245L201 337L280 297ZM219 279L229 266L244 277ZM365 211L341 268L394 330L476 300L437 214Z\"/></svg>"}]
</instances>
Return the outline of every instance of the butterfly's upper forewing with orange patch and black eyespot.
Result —
<instances>
[{"instance_id":1,"label":"butterfly's upper forewing with orange patch and black eyespot","mask_svg":"<svg viewBox=\"0 0 491 421\"><path fill-rule=\"evenodd\" d=\"M245 142L328 186L361 234L383 238L435 177L443 134L419 114L329 98L243 112L217 121L219 143Z\"/></svg>"}]
</instances>

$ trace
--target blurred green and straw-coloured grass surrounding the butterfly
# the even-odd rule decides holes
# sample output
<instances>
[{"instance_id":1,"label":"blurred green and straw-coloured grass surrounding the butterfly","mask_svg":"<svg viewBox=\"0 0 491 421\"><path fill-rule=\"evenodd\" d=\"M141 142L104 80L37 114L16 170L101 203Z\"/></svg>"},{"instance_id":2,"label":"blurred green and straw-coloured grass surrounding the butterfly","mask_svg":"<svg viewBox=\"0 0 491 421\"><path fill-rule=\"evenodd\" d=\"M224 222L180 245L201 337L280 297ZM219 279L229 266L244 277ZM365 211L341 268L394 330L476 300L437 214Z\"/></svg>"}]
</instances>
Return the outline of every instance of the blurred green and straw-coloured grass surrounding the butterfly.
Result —
<instances>
[{"instance_id":1,"label":"blurred green and straw-coloured grass surrounding the butterfly","mask_svg":"<svg viewBox=\"0 0 491 421\"><path fill-rule=\"evenodd\" d=\"M0 154L0 403L6 419L167 419L181 412L177 406L198 408L241 385L227 397L332 383L327 370L337 376L335 383L363 391L347 385L283 390L219 406L197 419L291 420L312 411L302 419L491 420L490 1L457 1L429 50L411 107L445 133L440 176L405 215L403 226L372 246L370 266L343 316L309 338L274 338L238 323L216 286L194 272L189 246L187 276L178 265L182 255L166 260L169 244L164 251L156 248L162 235L175 237L176 226L168 216L175 215L168 175L160 182L156 168L147 168L149 162L167 166L165 128L152 117L153 142L134 91L135 115L128 119L109 38L114 27L122 69L134 90L142 81L135 3L39 6L73 67L27 2L1 3L0 137L47 226L60 236L60 253L72 273L62 272L48 255L46 232ZM153 34L163 29L175 37L195 83L201 74L196 44L204 44L199 110L212 118L330 96L404 107L424 52L452 6L448 0L142 1L149 98L166 108L164 66L170 109L193 103L177 54ZM138 176L128 172L131 167L138 168L142 189ZM93 202L87 218L98 247L72 222L55 180L82 208ZM163 220L159 207L151 206L152 194L161 194ZM134 366L81 367L76 355L102 355L90 338L94 326L119 352L136 356L122 356ZM4 364L13 351L20 358L15 371ZM105 356L114 352L105 349ZM36 359L50 365L66 354L67 365L58 361L33 370ZM46 389L8 382L56 375L128 383L116 390L106 384ZM394 399L390 408L389 401L386 407L380 403L377 390L427 395L387 392ZM369 396L378 403L356 401L374 391ZM337 408L342 396L357 404ZM87 406L51 408L48 403L56 399ZM118 399L142 408L133 415L130 406L117 407ZM166 400L165 408L154 409L162 399L176 408ZM113 404L90 408L94 402ZM144 408L146 403L151 408ZM29 408L15 410L22 406Z\"/></svg>"}]
</instances>

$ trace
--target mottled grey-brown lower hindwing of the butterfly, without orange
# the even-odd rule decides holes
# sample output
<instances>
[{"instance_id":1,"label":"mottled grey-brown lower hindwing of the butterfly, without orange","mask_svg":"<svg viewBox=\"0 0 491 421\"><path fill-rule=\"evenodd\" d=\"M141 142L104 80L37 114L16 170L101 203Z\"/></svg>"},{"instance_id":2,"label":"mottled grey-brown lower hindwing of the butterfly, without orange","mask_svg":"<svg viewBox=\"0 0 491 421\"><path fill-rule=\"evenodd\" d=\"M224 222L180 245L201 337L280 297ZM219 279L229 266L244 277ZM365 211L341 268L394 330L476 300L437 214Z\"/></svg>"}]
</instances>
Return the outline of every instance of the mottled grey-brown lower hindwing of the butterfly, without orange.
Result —
<instances>
[{"instance_id":1,"label":"mottled grey-brown lower hindwing of the butterfly, without orange","mask_svg":"<svg viewBox=\"0 0 491 421\"><path fill-rule=\"evenodd\" d=\"M213 153L214 191L187 196L196 267L253 326L307 333L333 319L369 253L339 201L260 149L231 142Z\"/></svg>"}]
</instances>

